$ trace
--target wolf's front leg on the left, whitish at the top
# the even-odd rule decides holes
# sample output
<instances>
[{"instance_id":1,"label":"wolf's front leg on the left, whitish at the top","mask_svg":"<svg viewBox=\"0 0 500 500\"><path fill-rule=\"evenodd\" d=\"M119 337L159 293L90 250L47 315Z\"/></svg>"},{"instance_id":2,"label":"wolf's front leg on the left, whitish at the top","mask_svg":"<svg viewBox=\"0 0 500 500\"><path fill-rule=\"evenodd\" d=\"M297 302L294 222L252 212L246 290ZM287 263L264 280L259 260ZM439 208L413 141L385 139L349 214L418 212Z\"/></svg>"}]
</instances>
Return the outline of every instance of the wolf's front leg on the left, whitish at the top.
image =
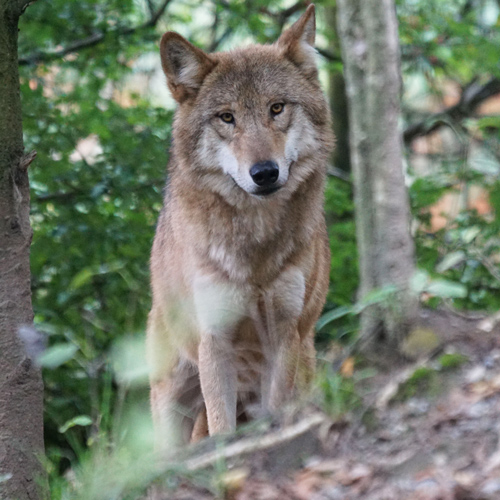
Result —
<instances>
[{"instance_id":1,"label":"wolf's front leg on the left, whitish at the top","mask_svg":"<svg viewBox=\"0 0 500 500\"><path fill-rule=\"evenodd\" d=\"M207 276L194 282L196 319L200 331L198 369L210 435L236 428L238 374L232 345L246 314L245 294L238 287Z\"/></svg>"}]
</instances>

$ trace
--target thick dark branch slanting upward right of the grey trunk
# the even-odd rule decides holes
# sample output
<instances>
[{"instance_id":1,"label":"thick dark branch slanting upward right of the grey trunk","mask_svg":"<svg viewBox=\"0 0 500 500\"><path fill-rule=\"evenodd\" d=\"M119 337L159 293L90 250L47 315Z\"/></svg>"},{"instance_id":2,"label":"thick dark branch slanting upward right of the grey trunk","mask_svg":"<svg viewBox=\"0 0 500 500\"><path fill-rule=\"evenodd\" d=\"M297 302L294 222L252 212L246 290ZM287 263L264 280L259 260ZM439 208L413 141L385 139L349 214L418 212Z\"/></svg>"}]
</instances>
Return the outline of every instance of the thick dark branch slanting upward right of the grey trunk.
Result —
<instances>
[{"instance_id":1,"label":"thick dark branch slanting upward right of the grey trunk","mask_svg":"<svg viewBox=\"0 0 500 500\"><path fill-rule=\"evenodd\" d=\"M500 94L500 79L492 78L484 85L479 85L477 80L473 80L465 87L457 104L407 127L403 133L404 142L408 144L416 137L428 135L446 125L450 119L460 121L473 116L481 103L497 94Z\"/></svg>"}]
</instances>

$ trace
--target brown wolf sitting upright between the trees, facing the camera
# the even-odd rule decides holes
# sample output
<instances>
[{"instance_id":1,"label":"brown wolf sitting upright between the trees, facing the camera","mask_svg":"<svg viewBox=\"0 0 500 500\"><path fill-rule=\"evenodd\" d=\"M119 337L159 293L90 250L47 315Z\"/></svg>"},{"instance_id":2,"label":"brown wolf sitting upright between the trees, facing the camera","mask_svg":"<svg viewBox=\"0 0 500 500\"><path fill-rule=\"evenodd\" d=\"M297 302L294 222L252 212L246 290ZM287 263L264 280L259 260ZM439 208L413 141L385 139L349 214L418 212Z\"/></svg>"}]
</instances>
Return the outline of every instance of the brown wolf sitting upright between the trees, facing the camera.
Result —
<instances>
[{"instance_id":1,"label":"brown wolf sitting upright between the trees, facing the camera","mask_svg":"<svg viewBox=\"0 0 500 500\"><path fill-rule=\"evenodd\" d=\"M147 355L167 447L275 412L314 374L333 148L315 30L310 5L272 45L207 54L174 32L161 39L178 108Z\"/></svg>"}]
</instances>

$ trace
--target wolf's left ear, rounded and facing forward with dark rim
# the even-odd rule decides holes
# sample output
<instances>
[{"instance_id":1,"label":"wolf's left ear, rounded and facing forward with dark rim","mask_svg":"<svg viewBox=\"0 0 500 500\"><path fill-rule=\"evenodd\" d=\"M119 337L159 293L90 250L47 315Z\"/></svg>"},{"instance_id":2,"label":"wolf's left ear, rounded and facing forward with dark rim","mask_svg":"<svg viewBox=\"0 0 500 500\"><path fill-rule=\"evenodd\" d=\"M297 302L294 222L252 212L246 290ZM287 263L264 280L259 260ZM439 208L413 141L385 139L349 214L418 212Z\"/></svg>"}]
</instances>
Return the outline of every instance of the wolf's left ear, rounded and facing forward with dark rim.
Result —
<instances>
[{"instance_id":1,"label":"wolf's left ear, rounded and facing forward with dark rim","mask_svg":"<svg viewBox=\"0 0 500 500\"><path fill-rule=\"evenodd\" d=\"M179 103L198 92L216 64L209 55L173 31L163 35L160 56L168 87Z\"/></svg>"}]
</instances>

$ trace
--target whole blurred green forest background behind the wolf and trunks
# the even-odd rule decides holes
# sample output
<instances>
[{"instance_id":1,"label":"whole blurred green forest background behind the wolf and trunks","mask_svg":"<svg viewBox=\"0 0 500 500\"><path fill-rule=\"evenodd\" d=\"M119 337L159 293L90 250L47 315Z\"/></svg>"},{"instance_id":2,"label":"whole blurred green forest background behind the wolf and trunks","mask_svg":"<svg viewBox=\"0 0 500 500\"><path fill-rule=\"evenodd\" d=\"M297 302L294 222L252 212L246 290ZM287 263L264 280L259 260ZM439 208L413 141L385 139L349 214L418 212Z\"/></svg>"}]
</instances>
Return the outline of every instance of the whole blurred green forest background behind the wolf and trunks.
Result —
<instances>
[{"instance_id":1,"label":"whole blurred green forest background behind the wolf and trunks","mask_svg":"<svg viewBox=\"0 0 500 500\"><path fill-rule=\"evenodd\" d=\"M356 342L358 261L336 7L318 1L318 62L338 138L326 193L331 285L317 342ZM62 475L147 410L141 339L148 259L174 111L158 41L208 51L276 40L305 3L38 1L21 18L19 64L30 167L33 308L47 337L46 468ZM397 2L405 176L429 307L500 309L500 2ZM387 303L391 290L365 300ZM335 383L342 377L331 375ZM330 388L325 391L331 390ZM348 404L346 402L346 404ZM137 417L139 418L139 417Z\"/></svg>"}]
</instances>

